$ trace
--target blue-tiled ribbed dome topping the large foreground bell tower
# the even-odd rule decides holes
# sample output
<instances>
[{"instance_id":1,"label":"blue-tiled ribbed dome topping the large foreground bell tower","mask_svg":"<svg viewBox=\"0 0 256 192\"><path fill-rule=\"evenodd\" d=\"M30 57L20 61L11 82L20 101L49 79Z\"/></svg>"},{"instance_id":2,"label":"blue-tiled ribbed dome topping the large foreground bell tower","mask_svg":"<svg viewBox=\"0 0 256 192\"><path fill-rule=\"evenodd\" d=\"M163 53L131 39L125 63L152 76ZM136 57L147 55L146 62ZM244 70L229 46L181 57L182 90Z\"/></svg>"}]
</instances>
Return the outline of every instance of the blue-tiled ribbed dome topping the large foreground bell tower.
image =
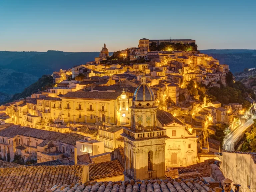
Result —
<instances>
[{"instance_id":1,"label":"blue-tiled ribbed dome topping the large foreground bell tower","mask_svg":"<svg viewBox=\"0 0 256 192\"><path fill-rule=\"evenodd\" d=\"M134 94L133 101L154 101L155 95L153 90L147 84L140 84Z\"/></svg>"}]
</instances>

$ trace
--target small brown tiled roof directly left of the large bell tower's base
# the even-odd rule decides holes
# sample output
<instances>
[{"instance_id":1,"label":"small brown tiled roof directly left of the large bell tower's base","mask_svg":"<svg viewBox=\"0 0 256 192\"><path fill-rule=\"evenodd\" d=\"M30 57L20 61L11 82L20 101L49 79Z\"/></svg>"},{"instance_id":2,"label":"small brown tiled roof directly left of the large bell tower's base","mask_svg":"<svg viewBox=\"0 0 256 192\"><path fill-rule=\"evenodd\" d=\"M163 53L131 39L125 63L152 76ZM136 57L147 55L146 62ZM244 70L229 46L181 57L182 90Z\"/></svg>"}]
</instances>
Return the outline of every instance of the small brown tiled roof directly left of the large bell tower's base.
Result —
<instances>
[{"instance_id":1,"label":"small brown tiled roof directly left of the large bell tower's base","mask_svg":"<svg viewBox=\"0 0 256 192\"><path fill-rule=\"evenodd\" d=\"M123 171L124 169L117 159L114 161L90 164L89 180L122 175Z\"/></svg>"}]
</instances>

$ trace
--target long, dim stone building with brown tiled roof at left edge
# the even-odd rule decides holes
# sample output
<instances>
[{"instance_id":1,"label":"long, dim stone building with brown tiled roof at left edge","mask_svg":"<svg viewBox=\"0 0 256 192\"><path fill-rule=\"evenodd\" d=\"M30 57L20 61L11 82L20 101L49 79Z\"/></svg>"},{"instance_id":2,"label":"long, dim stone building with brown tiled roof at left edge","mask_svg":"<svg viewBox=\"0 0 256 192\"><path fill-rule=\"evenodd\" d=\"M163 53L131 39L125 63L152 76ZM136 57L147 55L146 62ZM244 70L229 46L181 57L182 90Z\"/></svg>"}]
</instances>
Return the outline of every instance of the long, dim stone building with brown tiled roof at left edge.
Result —
<instances>
[{"instance_id":1,"label":"long, dim stone building with brown tiled roof at left edge","mask_svg":"<svg viewBox=\"0 0 256 192\"><path fill-rule=\"evenodd\" d=\"M37 159L38 162L58 159L62 154L70 157L76 141L83 138L75 133L63 134L12 125L0 131L0 157L13 161L17 154L25 160Z\"/></svg>"}]
</instances>

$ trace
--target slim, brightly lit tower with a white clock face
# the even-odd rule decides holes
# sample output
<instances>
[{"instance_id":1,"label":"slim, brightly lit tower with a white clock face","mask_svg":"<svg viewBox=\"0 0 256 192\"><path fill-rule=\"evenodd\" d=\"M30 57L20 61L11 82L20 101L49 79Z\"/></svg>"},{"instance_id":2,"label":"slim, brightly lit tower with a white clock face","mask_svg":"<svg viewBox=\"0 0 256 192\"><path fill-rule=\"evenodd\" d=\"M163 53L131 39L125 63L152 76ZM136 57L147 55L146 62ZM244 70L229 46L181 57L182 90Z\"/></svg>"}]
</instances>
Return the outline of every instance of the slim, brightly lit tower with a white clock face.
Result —
<instances>
[{"instance_id":1,"label":"slim, brightly lit tower with a white clock face","mask_svg":"<svg viewBox=\"0 0 256 192\"><path fill-rule=\"evenodd\" d=\"M119 97L119 112L120 112L120 125L129 124L131 122L130 112L128 107L128 98L124 92Z\"/></svg>"}]
</instances>

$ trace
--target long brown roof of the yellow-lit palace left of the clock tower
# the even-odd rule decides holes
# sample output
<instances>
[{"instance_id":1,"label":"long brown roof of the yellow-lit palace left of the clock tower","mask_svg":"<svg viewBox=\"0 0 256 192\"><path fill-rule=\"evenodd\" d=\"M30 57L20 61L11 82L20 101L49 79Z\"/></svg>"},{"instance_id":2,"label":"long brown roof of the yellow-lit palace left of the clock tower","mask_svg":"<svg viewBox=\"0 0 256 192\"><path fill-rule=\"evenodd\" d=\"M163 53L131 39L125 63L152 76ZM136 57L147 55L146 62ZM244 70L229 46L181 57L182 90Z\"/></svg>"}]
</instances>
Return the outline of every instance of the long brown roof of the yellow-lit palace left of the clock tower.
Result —
<instances>
[{"instance_id":1,"label":"long brown roof of the yellow-lit palace left of the clock tower","mask_svg":"<svg viewBox=\"0 0 256 192\"><path fill-rule=\"evenodd\" d=\"M81 99L106 99L106 100L116 100L122 92L108 92L102 93L98 91L93 92L68 92L63 96L63 98L81 98Z\"/></svg>"}]
</instances>

